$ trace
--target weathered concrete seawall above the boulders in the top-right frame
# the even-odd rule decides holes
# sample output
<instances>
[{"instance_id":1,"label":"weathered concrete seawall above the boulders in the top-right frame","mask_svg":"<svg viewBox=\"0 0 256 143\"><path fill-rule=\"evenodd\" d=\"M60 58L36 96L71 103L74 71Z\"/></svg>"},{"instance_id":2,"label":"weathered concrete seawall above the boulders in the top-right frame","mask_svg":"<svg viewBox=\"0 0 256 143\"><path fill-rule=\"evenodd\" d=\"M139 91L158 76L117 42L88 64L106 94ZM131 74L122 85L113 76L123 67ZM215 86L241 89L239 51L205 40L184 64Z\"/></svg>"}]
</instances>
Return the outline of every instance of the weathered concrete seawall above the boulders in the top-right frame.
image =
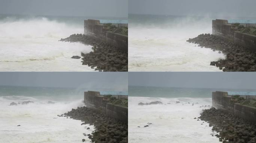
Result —
<instances>
[{"instance_id":1,"label":"weathered concrete seawall above the boulders in the top-right frame","mask_svg":"<svg viewBox=\"0 0 256 143\"><path fill-rule=\"evenodd\" d=\"M243 23L245 27L256 26L256 24ZM249 48L252 51L256 51L256 36L247 33L241 33L237 30L238 26L231 25L228 20L216 19L212 21L213 35L221 36L228 41L235 44Z\"/></svg>"}]
</instances>

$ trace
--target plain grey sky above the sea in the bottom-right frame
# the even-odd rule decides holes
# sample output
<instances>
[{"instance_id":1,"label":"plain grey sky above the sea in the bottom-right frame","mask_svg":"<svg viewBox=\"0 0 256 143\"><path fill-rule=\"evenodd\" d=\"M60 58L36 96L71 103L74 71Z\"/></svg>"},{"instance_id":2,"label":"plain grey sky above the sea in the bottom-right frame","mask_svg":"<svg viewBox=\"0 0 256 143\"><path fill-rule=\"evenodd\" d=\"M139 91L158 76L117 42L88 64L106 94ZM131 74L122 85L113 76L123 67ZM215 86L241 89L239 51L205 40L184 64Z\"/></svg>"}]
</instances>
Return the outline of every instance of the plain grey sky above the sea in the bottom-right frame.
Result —
<instances>
[{"instance_id":1,"label":"plain grey sky above the sea in the bottom-right frame","mask_svg":"<svg viewBox=\"0 0 256 143\"><path fill-rule=\"evenodd\" d=\"M256 89L256 72L129 72L128 85Z\"/></svg>"}]
</instances>

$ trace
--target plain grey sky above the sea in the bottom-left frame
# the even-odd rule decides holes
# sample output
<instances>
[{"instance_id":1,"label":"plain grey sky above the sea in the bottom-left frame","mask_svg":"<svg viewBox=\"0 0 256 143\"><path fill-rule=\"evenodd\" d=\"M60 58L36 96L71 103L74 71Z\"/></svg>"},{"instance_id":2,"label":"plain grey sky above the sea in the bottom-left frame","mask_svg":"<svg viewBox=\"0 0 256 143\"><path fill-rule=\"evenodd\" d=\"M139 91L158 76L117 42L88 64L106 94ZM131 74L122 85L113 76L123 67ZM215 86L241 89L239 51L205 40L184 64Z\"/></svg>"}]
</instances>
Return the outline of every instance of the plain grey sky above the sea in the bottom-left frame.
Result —
<instances>
[{"instance_id":1,"label":"plain grey sky above the sea in the bottom-left frame","mask_svg":"<svg viewBox=\"0 0 256 143\"><path fill-rule=\"evenodd\" d=\"M126 72L0 72L0 85L128 90Z\"/></svg>"}]
</instances>

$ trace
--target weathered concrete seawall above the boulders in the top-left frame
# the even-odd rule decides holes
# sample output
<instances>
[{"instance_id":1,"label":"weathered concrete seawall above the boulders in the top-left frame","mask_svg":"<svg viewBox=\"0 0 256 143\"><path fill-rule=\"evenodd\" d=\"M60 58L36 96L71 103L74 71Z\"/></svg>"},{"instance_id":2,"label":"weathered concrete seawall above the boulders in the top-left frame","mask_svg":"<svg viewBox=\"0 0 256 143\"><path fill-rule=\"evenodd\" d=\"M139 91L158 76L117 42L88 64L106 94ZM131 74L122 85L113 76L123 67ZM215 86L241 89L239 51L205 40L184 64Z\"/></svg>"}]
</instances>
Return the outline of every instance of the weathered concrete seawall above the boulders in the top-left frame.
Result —
<instances>
[{"instance_id":1,"label":"weathered concrete seawall above the boulders in the top-left frame","mask_svg":"<svg viewBox=\"0 0 256 143\"><path fill-rule=\"evenodd\" d=\"M127 23L100 23L100 20L84 20L84 34L97 37L98 40L118 47L122 51L128 51L128 35L123 35L120 31L113 32L109 27L128 28Z\"/></svg>"}]
</instances>

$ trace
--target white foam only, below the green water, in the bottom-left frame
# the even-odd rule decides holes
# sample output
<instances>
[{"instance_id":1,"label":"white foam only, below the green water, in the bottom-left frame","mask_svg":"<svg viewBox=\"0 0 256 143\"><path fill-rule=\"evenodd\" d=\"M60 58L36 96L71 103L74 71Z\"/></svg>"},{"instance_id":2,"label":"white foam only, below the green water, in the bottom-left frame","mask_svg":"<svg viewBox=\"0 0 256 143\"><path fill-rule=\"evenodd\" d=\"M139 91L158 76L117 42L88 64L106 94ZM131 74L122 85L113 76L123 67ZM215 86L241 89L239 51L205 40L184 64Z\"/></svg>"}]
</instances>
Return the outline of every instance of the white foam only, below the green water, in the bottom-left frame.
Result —
<instances>
[{"instance_id":1,"label":"white foam only, below the green water, in the bottom-left frame","mask_svg":"<svg viewBox=\"0 0 256 143\"><path fill-rule=\"evenodd\" d=\"M9 106L10 102L33 101L27 105ZM93 125L80 125L80 120L57 117L72 108L84 106L82 100L47 104L45 98L27 96L0 97L0 142L1 143L80 143L90 139ZM17 126L21 125L21 126ZM89 130L86 130L90 127Z\"/></svg>"}]
</instances>

